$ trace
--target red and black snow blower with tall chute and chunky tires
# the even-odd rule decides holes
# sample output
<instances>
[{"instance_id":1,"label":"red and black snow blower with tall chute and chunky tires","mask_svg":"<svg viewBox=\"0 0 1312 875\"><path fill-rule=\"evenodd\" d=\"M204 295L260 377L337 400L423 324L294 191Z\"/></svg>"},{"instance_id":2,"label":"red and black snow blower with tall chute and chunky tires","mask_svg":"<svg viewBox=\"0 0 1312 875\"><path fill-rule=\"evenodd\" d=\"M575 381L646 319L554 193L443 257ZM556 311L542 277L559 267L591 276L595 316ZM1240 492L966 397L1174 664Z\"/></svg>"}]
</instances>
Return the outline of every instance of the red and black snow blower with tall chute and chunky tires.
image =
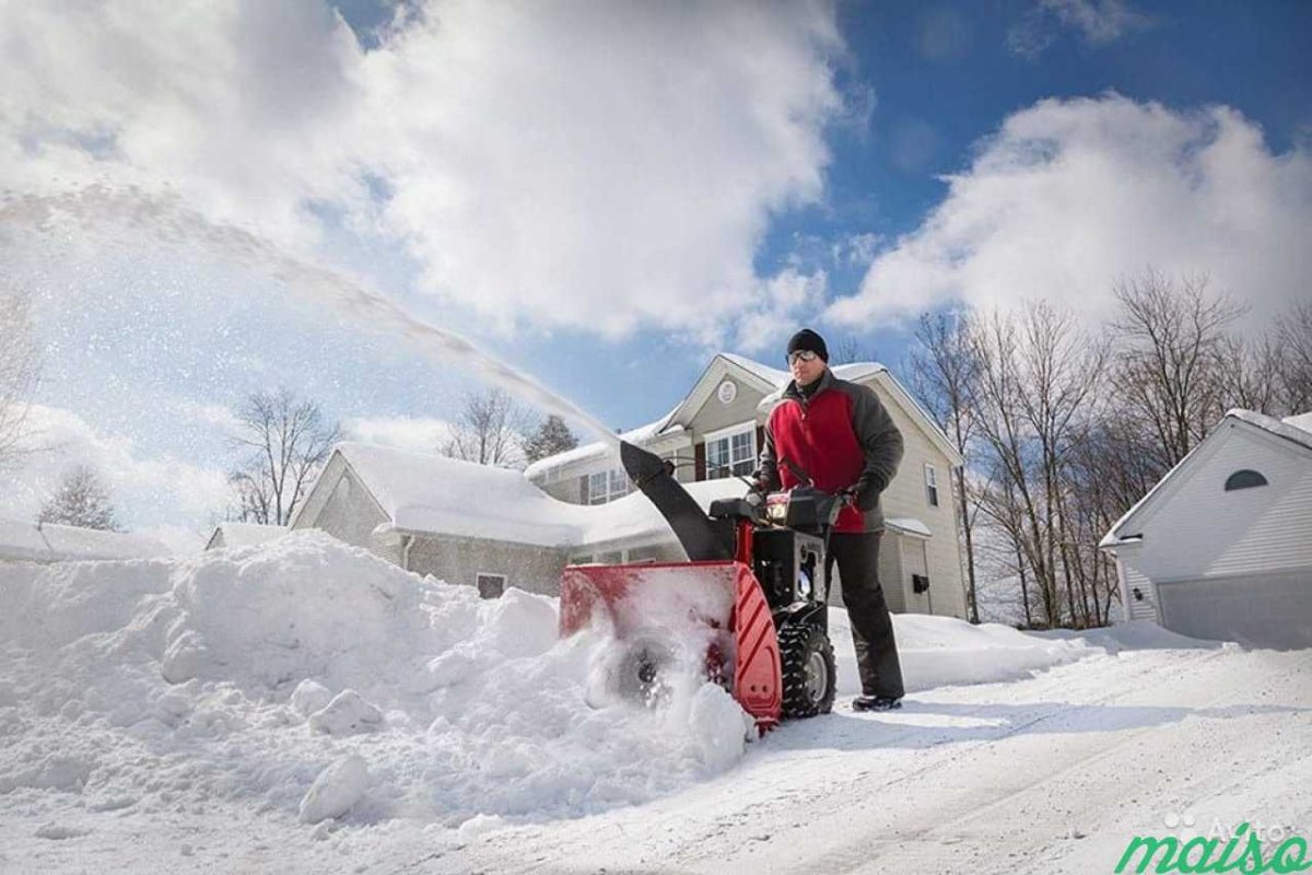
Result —
<instances>
[{"instance_id":1,"label":"red and black snow blower with tall chute and chunky tires","mask_svg":"<svg viewBox=\"0 0 1312 875\"><path fill-rule=\"evenodd\" d=\"M626 648L611 685L628 698L660 701L678 641L690 640L702 648L705 676L728 689L761 732L781 718L828 714L836 673L825 547L840 500L795 487L764 500L722 499L707 514L670 463L625 442L619 457L689 561L565 568L562 638L609 622Z\"/></svg>"}]
</instances>

